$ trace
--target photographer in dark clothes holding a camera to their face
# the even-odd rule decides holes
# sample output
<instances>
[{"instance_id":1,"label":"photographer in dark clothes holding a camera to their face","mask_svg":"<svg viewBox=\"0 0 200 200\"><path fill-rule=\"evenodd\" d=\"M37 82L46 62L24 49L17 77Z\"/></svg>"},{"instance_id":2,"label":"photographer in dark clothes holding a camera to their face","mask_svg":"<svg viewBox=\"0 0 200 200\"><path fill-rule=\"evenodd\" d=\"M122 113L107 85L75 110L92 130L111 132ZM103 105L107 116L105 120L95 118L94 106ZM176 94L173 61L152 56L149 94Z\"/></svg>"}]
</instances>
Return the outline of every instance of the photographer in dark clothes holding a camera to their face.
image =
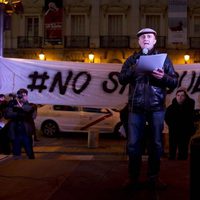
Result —
<instances>
[{"instance_id":1,"label":"photographer in dark clothes holding a camera to their face","mask_svg":"<svg viewBox=\"0 0 200 200\"><path fill-rule=\"evenodd\" d=\"M29 159L34 159L32 123L34 108L28 102L28 90L21 88L8 102L5 118L8 122L8 136L12 143L12 152L16 159L21 158L21 149L24 147Z\"/></svg>"}]
</instances>

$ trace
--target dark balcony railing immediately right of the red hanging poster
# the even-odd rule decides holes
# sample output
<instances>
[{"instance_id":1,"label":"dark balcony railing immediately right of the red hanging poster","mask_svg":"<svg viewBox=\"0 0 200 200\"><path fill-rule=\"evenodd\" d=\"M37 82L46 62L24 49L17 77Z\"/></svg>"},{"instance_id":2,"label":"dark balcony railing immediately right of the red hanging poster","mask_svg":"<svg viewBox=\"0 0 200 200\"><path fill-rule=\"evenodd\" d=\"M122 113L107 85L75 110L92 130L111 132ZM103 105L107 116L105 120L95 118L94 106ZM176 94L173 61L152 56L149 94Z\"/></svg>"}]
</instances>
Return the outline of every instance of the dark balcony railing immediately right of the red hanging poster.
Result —
<instances>
[{"instance_id":1,"label":"dark balcony railing immediately right of the red hanging poster","mask_svg":"<svg viewBox=\"0 0 200 200\"><path fill-rule=\"evenodd\" d=\"M88 36L65 36L65 48L88 48Z\"/></svg>"}]
</instances>

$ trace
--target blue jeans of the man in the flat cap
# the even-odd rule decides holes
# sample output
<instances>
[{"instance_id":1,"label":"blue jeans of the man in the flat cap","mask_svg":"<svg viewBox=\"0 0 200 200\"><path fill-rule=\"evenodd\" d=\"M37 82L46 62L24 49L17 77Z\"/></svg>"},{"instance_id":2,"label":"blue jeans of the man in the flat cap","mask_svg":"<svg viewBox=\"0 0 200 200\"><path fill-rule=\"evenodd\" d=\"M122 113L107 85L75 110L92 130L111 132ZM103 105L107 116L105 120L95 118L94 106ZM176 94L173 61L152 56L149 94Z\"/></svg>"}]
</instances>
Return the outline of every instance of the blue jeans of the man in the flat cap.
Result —
<instances>
[{"instance_id":1,"label":"blue jeans of the man in the flat cap","mask_svg":"<svg viewBox=\"0 0 200 200\"><path fill-rule=\"evenodd\" d=\"M148 176L157 176L160 171L160 158L163 154L162 131L164 111L129 113L127 151L129 156L129 175L138 179L142 161L142 143L148 138ZM148 131L145 130L148 123Z\"/></svg>"}]
</instances>

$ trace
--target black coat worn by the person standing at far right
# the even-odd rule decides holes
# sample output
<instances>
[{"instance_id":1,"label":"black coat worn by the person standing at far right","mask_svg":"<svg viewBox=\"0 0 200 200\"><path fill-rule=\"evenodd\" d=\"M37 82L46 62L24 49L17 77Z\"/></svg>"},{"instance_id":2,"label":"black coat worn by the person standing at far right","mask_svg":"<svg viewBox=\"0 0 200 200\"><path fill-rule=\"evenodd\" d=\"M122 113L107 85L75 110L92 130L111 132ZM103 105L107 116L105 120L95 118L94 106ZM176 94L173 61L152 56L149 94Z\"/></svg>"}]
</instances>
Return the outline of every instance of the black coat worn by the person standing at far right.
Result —
<instances>
[{"instance_id":1,"label":"black coat worn by the person standing at far right","mask_svg":"<svg viewBox=\"0 0 200 200\"><path fill-rule=\"evenodd\" d=\"M195 133L194 126L195 101L187 97L183 104L178 104L176 98L169 105L165 113L165 122L169 132L177 135L192 136Z\"/></svg>"}]
</instances>

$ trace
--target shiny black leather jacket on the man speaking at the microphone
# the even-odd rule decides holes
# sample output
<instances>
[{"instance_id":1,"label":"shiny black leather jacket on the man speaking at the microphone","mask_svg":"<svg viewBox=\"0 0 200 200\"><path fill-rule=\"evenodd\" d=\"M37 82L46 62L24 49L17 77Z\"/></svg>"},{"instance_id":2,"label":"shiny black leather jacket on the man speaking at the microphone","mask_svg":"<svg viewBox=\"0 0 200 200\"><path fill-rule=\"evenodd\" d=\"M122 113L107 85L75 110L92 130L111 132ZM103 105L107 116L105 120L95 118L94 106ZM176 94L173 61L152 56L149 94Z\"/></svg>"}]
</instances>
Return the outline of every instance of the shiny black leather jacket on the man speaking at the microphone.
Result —
<instances>
[{"instance_id":1,"label":"shiny black leather jacket on the man speaking at the microphone","mask_svg":"<svg viewBox=\"0 0 200 200\"><path fill-rule=\"evenodd\" d=\"M157 53L156 50L150 52L150 54ZM122 85L129 84L129 111L163 110L167 88L174 89L177 86L177 74L168 57L164 62L164 77L160 80L150 74L137 72L136 63L141 55L142 51L128 57L118 77Z\"/></svg>"}]
</instances>

